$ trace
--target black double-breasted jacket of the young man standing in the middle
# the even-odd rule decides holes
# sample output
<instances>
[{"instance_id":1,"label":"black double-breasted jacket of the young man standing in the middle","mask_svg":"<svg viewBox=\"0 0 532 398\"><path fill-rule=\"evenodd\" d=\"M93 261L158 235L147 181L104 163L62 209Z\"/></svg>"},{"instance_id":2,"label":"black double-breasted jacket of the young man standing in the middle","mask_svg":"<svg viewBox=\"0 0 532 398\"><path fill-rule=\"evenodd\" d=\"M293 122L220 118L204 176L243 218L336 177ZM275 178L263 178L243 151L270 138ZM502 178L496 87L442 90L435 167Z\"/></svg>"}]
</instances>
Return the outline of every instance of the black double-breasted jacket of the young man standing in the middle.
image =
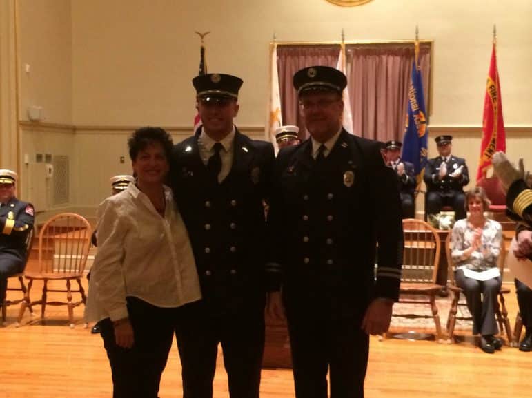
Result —
<instances>
[{"instance_id":1,"label":"black double-breasted jacket of the young man standing in the middle","mask_svg":"<svg viewBox=\"0 0 532 398\"><path fill-rule=\"evenodd\" d=\"M264 308L266 221L273 146L235 133L233 166L218 183L195 136L175 145L170 183L195 255L201 294L213 313Z\"/></svg>"}]
</instances>

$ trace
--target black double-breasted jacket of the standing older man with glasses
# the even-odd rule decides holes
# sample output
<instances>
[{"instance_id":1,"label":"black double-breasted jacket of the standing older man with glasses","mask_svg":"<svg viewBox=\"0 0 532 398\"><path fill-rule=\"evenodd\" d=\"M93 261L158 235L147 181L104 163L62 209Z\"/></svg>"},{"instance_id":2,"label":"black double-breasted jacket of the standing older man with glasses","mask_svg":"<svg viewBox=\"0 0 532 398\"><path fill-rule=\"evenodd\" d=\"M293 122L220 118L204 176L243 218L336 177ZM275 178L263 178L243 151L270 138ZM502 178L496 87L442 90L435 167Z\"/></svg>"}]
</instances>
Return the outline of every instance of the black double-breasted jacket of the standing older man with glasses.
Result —
<instances>
[{"instance_id":1,"label":"black double-breasted jacket of the standing older man with glasses","mask_svg":"<svg viewBox=\"0 0 532 398\"><path fill-rule=\"evenodd\" d=\"M277 156L268 224L277 238L271 262L282 273L290 313L362 320L375 297L397 300L402 221L397 175L380 145L339 135L321 165L312 143ZM375 262L378 242L378 267Z\"/></svg>"}]
</instances>

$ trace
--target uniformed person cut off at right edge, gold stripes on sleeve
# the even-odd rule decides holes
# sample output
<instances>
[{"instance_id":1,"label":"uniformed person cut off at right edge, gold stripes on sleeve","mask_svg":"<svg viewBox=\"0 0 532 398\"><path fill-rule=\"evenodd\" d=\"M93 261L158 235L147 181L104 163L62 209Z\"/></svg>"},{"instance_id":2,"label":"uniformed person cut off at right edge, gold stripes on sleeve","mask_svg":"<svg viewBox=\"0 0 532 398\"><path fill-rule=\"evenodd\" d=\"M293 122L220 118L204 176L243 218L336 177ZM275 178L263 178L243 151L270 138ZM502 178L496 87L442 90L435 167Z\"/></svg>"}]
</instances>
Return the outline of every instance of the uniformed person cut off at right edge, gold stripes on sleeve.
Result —
<instances>
[{"instance_id":1,"label":"uniformed person cut off at right edge, gold stripes on sleeve","mask_svg":"<svg viewBox=\"0 0 532 398\"><path fill-rule=\"evenodd\" d=\"M506 191L506 214L518 222L510 250L516 258L532 261L532 175L524 173L522 159L519 165L519 169L513 167L504 152L493 155L495 174ZM532 289L515 279L515 293L526 331L519 349L529 352L532 351Z\"/></svg>"}]
</instances>

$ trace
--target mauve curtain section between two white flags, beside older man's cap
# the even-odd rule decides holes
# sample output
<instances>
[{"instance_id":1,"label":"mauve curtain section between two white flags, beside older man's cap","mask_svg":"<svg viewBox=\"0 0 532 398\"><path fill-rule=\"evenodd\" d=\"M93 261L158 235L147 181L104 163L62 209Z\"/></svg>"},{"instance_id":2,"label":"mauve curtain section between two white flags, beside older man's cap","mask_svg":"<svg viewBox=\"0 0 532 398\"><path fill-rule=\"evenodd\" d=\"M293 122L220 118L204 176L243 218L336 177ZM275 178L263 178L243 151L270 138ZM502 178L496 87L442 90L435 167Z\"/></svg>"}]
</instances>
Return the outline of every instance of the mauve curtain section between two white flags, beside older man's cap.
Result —
<instances>
[{"instance_id":1,"label":"mauve curtain section between two white flags, beside older man's cap","mask_svg":"<svg viewBox=\"0 0 532 398\"><path fill-rule=\"evenodd\" d=\"M279 94L284 125L299 126L299 138L308 138L301 115L297 92L292 78L298 70L314 65L336 67L339 45L278 45L277 71L279 72Z\"/></svg>"}]
</instances>

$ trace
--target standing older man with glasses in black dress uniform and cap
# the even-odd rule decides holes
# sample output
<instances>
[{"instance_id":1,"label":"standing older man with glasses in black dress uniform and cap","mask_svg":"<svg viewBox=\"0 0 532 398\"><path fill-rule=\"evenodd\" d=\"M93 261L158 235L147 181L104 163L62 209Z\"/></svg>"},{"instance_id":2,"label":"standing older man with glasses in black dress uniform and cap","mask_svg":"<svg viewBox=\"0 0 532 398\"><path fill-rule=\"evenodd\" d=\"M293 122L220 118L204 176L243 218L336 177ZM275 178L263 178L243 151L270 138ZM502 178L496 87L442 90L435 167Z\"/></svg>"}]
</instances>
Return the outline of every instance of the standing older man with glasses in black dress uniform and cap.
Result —
<instances>
[{"instance_id":1,"label":"standing older man with glasses in black dress uniform and cap","mask_svg":"<svg viewBox=\"0 0 532 398\"><path fill-rule=\"evenodd\" d=\"M342 72L307 67L293 83L311 138L279 152L268 224L279 239L271 260L282 273L295 395L327 397L329 370L331 397L363 397L368 334L388 329L399 294L397 177L380 143L342 128ZM272 316L282 315L279 296Z\"/></svg>"}]
</instances>

